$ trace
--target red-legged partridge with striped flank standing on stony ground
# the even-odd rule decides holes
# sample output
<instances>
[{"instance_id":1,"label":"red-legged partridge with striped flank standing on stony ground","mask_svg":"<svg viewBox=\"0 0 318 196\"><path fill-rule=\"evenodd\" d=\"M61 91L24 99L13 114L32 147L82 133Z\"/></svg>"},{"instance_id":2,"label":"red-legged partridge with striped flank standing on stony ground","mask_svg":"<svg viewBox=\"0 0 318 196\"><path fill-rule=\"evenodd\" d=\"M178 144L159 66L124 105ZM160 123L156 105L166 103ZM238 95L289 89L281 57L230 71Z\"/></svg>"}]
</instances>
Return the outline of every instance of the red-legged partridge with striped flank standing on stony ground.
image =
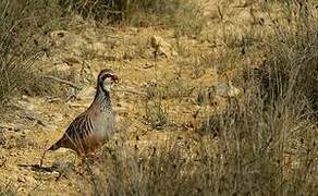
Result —
<instances>
[{"instance_id":1,"label":"red-legged partridge with striped flank standing on stony ground","mask_svg":"<svg viewBox=\"0 0 318 196\"><path fill-rule=\"evenodd\" d=\"M61 147L74 150L85 158L96 151L115 132L114 111L110 100L110 88L119 82L117 74L110 69L103 69L97 76L96 95L90 106L69 125L63 136L45 150L40 166L47 151Z\"/></svg>"}]
</instances>

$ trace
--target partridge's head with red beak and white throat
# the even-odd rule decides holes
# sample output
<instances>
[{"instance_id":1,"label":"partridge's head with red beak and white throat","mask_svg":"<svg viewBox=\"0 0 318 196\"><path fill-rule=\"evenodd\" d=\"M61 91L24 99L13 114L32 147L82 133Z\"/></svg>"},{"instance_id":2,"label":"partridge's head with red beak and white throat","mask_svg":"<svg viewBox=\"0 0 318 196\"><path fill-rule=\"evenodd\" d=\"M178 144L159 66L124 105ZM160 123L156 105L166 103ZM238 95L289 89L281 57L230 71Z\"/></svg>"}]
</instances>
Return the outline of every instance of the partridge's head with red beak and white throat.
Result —
<instances>
[{"instance_id":1,"label":"partridge's head with red beak and white throat","mask_svg":"<svg viewBox=\"0 0 318 196\"><path fill-rule=\"evenodd\" d=\"M110 69L101 70L97 79L98 86L102 87L103 90L109 90L113 84L119 82L119 77Z\"/></svg>"}]
</instances>

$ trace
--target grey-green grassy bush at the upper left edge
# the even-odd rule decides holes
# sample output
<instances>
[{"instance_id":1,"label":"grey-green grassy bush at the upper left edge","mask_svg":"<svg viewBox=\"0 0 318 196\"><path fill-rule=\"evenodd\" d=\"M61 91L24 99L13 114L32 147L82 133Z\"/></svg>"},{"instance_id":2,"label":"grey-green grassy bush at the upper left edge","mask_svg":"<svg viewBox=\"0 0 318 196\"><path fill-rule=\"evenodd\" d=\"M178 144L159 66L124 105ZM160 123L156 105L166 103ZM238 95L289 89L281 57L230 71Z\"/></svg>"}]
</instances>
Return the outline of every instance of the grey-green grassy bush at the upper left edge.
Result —
<instances>
[{"instance_id":1,"label":"grey-green grassy bush at the upper left edge","mask_svg":"<svg viewBox=\"0 0 318 196\"><path fill-rule=\"evenodd\" d=\"M45 90L33 64L46 52L38 39L56 14L53 1L0 2L0 103L14 91ZM52 9L52 10L50 10Z\"/></svg>"}]
</instances>

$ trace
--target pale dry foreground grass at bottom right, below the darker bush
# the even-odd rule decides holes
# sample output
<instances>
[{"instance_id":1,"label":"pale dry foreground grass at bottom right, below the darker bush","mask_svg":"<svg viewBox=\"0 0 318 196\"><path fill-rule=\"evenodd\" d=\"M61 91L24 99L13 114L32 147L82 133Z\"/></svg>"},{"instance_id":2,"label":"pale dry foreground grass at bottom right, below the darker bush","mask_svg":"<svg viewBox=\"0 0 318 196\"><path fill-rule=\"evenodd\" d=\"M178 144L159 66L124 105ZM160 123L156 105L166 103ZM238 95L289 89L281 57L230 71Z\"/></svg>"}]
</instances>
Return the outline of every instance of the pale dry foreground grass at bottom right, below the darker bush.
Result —
<instances>
[{"instance_id":1,"label":"pale dry foreground grass at bottom right, below the darker bush","mask_svg":"<svg viewBox=\"0 0 318 196\"><path fill-rule=\"evenodd\" d=\"M193 145L194 140L186 138L146 151L117 146L97 167L101 172L93 173L95 194L316 193L317 124L302 112L306 102L280 100L273 107L257 91L212 117ZM189 152L192 148L196 154Z\"/></svg>"}]
</instances>

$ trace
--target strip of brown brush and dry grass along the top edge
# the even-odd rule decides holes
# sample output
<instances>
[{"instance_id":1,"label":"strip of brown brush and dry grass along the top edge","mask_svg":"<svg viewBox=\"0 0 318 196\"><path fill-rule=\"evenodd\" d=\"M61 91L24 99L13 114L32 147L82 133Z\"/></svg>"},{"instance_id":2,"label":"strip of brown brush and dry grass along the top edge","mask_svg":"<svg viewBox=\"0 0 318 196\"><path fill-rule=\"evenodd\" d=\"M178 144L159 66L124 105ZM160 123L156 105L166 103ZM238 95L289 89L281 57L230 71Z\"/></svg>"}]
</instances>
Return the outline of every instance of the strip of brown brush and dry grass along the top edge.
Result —
<instances>
[{"instance_id":1,"label":"strip of brown brush and dry grass along the top edge","mask_svg":"<svg viewBox=\"0 0 318 196\"><path fill-rule=\"evenodd\" d=\"M191 0L60 0L65 14L73 12L98 22L133 26L168 26L176 36L197 36L204 27L203 7Z\"/></svg>"}]
</instances>

